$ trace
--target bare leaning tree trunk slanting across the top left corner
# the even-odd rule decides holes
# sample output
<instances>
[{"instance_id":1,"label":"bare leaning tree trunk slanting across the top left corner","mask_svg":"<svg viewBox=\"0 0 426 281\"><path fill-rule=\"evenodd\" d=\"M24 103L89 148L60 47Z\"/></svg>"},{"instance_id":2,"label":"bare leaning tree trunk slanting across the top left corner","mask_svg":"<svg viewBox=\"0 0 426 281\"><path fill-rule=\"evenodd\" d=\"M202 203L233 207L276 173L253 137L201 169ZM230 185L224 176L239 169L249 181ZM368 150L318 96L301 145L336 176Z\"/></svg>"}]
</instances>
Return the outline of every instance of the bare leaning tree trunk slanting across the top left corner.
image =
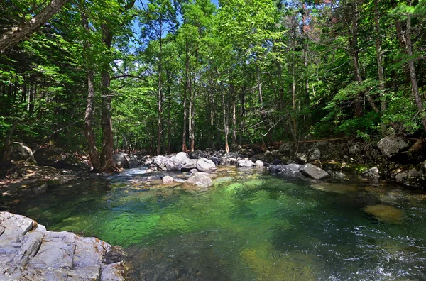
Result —
<instances>
[{"instance_id":1,"label":"bare leaning tree trunk slanting across the top left corner","mask_svg":"<svg viewBox=\"0 0 426 281\"><path fill-rule=\"evenodd\" d=\"M0 52L11 48L28 35L31 35L43 26L52 16L57 13L68 0L52 0L48 6L31 18L31 20L12 26L0 35Z\"/></svg>"}]
</instances>

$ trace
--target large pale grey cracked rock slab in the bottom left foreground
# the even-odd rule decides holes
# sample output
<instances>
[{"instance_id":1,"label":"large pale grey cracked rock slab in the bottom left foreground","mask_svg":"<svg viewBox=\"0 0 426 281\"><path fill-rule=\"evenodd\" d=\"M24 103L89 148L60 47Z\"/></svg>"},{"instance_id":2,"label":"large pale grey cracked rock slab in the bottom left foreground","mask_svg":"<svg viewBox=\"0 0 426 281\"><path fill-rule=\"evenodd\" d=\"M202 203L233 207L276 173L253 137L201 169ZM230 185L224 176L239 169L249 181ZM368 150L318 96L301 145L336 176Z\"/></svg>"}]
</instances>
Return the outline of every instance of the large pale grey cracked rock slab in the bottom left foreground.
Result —
<instances>
[{"instance_id":1,"label":"large pale grey cracked rock slab in the bottom left foreground","mask_svg":"<svg viewBox=\"0 0 426 281\"><path fill-rule=\"evenodd\" d=\"M104 261L111 246L97 238L45 231L9 212L0 228L0 280L124 280L122 261Z\"/></svg>"}]
</instances>

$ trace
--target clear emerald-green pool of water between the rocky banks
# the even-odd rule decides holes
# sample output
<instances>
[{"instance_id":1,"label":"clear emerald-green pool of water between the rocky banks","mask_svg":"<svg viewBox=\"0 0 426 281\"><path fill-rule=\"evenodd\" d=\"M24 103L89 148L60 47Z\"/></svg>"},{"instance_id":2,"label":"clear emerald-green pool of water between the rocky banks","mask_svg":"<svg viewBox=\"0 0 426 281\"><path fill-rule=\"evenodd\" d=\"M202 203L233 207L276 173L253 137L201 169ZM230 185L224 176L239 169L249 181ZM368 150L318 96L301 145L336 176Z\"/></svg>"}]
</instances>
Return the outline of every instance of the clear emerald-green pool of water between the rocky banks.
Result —
<instances>
[{"instance_id":1,"label":"clear emerald-green pool of water between the rocky banks","mask_svg":"<svg viewBox=\"0 0 426 281\"><path fill-rule=\"evenodd\" d=\"M129 280L426 280L422 192L255 170L222 170L210 188L146 176L5 197L1 209L123 246ZM377 204L391 211L365 211Z\"/></svg>"}]
</instances>

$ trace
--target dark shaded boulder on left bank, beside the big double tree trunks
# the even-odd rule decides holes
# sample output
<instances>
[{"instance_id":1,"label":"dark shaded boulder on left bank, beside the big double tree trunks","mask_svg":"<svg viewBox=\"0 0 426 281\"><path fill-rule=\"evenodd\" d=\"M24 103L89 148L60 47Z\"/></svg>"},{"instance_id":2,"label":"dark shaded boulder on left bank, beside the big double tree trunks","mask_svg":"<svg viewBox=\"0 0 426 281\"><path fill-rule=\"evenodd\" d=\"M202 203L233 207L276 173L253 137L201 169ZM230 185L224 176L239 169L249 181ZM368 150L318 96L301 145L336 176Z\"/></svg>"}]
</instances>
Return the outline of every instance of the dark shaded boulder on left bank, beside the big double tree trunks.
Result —
<instances>
[{"instance_id":1,"label":"dark shaded boulder on left bank, beside the big double tree trunks","mask_svg":"<svg viewBox=\"0 0 426 281\"><path fill-rule=\"evenodd\" d=\"M72 153L56 146L47 146L35 151L34 158L40 166L68 169L80 165L80 161Z\"/></svg>"}]
</instances>

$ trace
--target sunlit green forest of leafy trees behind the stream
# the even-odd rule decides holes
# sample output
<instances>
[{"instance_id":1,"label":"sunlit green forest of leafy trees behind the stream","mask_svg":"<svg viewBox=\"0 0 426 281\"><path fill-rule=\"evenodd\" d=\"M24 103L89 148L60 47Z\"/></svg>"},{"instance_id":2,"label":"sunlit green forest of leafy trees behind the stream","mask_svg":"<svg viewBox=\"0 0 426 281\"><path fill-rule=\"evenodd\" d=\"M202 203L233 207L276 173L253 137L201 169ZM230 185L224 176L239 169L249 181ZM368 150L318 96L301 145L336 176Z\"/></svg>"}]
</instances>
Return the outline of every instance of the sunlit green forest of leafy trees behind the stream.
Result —
<instances>
[{"instance_id":1,"label":"sunlit green forest of leafy trees behind the stream","mask_svg":"<svg viewBox=\"0 0 426 281\"><path fill-rule=\"evenodd\" d=\"M425 0L0 5L0 146L114 170L113 150L425 136Z\"/></svg>"}]
</instances>

